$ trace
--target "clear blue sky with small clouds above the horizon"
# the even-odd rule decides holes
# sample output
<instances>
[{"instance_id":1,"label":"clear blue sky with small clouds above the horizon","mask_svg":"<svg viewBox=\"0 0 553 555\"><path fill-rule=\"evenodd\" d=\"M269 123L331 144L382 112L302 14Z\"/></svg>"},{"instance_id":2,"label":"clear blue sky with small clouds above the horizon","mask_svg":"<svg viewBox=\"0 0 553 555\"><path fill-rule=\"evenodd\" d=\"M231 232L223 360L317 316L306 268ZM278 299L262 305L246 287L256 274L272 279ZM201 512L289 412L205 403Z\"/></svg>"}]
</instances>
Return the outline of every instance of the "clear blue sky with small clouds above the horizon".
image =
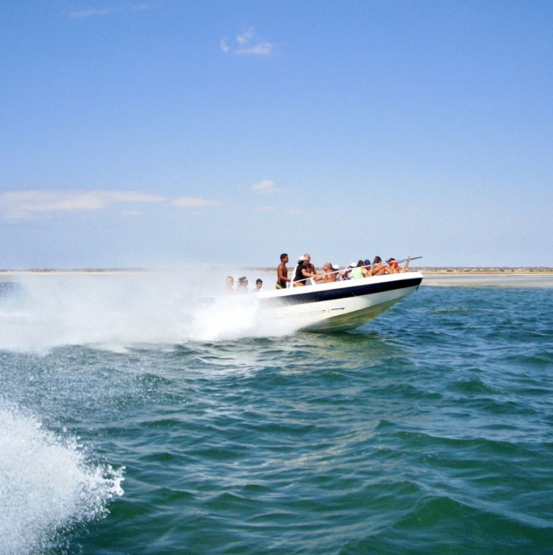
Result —
<instances>
[{"instance_id":1,"label":"clear blue sky with small clouds above the horizon","mask_svg":"<svg viewBox=\"0 0 553 555\"><path fill-rule=\"evenodd\" d=\"M553 265L549 1L0 2L0 268Z\"/></svg>"}]
</instances>

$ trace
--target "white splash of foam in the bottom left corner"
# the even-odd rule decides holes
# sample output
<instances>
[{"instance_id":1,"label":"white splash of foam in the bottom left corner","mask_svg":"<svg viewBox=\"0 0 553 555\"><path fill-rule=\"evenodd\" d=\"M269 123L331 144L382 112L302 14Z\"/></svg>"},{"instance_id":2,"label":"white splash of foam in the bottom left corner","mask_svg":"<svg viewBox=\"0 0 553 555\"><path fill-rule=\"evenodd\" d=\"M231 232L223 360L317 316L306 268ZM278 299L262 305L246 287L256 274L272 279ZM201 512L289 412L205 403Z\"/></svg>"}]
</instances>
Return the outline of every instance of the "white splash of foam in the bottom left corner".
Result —
<instances>
[{"instance_id":1,"label":"white splash of foam in the bottom left corner","mask_svg":"<svg viewBox=\"0 0 553 555\"><path fill-rule=\"evenodd\" d=\"M0 404L0 553L42 552L67 527L106 513L123 469L87 463L76 440Z\"/></svg>"}]
</instances>

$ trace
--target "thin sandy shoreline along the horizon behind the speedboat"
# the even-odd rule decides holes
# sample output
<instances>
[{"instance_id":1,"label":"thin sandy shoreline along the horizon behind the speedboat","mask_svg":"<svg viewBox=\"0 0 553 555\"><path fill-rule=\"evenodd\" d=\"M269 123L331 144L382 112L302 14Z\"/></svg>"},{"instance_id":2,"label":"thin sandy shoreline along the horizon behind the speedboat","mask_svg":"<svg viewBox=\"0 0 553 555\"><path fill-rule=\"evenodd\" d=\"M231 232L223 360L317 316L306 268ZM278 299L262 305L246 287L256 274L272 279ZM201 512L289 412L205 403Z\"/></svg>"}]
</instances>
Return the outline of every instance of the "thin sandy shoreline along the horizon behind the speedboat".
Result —
<instances>
[{"instance_id":1,"label":"thin sandy shoreline along the horizon behind the speedboat","mask_svg":"<svg viewBox=\"0 0 553 555\"><path fill-rule=\"evenodd\" d=\"M545 276L553 275L553 267L412 267L412 271L422 272L426 275L454 276L454 275L501 275L501 276ZM147 272L174 271L170 268L147 269L147 268L76 268L73 270L58 270L50 268L31 268L28 270L0 270L0 276L25 275L25 274L136 274ZM251 267L244 268L244 272L258 274L274 274L275 268Z\"/></svg>"}]
</instances>

